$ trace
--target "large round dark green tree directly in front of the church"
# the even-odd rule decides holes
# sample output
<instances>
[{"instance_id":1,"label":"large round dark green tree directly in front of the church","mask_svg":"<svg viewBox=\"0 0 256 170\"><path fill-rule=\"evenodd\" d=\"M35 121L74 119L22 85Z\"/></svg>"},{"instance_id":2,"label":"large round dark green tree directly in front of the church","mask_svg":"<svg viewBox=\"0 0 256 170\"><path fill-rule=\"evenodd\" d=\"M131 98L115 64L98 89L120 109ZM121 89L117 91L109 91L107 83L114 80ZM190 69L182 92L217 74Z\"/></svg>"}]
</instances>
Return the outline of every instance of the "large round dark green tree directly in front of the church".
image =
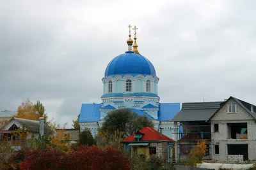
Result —
<instances>
[{"instance_id":1,"label":"large round dark green tree directly in front of the church","mask_svg":"<svg viewBox=\"0 0 256 170\"><path fill-rule=\"evenodd\" d=\"M154 127L154 123L145 115L139 116L130 109L114 110L105 117L100 131L115 134L115 131L124 132L125 136L130 136L143 127Z\"/></svg>"}]
</instances>

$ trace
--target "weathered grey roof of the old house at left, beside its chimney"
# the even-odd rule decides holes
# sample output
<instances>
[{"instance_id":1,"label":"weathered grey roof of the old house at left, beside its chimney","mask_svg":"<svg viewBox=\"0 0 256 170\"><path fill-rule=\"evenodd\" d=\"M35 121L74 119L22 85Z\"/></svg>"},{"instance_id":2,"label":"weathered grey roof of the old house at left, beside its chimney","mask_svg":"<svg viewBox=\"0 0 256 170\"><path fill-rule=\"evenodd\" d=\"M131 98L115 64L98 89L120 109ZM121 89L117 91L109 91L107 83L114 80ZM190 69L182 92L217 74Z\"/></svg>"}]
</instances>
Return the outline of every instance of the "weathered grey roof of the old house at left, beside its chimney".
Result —
<instances>
[{"instance_id":1,"label":"weathered grey roof of the old house at left, beside its chimney","mask_svg":"<svg viewBox=\"0 0 256 170\"><path fill-rule=\"evenodd\" d=\"M28 120L25 118L15 118L13 117L12 119L16 120L19 122L19 124L23 125L29 129L30 132L39 132L39 120ZM51 129L44 124L44 132L45 133L51 133Z\"/></svg>"}]
</instances>

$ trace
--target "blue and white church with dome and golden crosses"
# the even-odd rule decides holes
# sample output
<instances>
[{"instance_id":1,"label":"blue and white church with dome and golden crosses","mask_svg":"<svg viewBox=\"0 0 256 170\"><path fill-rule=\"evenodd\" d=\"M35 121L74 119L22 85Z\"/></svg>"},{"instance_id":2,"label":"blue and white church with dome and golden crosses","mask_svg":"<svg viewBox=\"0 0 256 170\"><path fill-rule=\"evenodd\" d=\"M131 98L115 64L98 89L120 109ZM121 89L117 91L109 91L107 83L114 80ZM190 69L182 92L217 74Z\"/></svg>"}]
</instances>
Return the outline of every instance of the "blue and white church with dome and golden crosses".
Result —
<instances>
[{"instance_id":1,"label":"blue and white church with dome and golden crosses","mask_svg":"<svg viewBox=\"0 0 256 170\"><path fill-rule=\"evenodd\" d=\"M113 110L129 108L138 115L146 115L155 124L154 129L163 128L163 134L175 139L172 118L180 111L180 103L160 103L158 96L159 78L153 64L138 52L136 43L131 39L129 25L128 50L111 60L106 67L103 94L100 104L82 104L79 116L81 131L90 129L93 136L99 131L104 117Z\"/></svg>"}]
</instances>

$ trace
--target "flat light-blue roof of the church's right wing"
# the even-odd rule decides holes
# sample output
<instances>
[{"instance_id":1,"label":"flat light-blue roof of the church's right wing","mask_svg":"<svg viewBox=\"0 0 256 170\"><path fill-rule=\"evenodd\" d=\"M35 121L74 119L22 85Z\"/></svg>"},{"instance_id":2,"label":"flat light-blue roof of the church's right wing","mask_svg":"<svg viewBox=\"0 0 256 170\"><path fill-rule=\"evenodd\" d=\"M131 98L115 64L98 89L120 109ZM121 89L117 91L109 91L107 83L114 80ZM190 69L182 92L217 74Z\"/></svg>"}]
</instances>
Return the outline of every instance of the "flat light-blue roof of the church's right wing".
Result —
<instances>
[{"instance_id":1,"label":"flat light-blue roof of the church's right wing","mask_svg":"<svg viewBox=\"0 0 256 170\"><path fill-rule=\"evenodd\" d=\"M170 121L180 111L180 103L160 103L158 111L159 121Z\"/></svg>"}]
</instances>

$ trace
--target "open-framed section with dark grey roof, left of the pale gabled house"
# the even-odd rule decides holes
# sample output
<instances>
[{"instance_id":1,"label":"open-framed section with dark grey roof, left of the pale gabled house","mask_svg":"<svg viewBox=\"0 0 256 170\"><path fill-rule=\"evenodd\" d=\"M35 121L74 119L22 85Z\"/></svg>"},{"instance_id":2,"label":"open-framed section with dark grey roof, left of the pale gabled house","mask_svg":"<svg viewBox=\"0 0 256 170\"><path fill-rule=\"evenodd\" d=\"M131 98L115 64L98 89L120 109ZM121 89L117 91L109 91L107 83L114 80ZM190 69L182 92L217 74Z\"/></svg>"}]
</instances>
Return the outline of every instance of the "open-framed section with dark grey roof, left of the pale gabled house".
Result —
<instances>
[{"instance_id":1,"label":"open-framed section with dark grey roof, left of the pale gabled house","mask_svg":"<svg viewBox=\"0 0 256 170\"><path fill-rule=\"evenodd\" d=\"M210 118L220 108L223 102L182 103L182 108L173 117L176 129L175 149L177 161L186 159L198 141L204 139L207 144L207 154L204 159L211 159L211 122ZM179 140L177 140L179 139Z\"/></svg>"}]
</instances>

